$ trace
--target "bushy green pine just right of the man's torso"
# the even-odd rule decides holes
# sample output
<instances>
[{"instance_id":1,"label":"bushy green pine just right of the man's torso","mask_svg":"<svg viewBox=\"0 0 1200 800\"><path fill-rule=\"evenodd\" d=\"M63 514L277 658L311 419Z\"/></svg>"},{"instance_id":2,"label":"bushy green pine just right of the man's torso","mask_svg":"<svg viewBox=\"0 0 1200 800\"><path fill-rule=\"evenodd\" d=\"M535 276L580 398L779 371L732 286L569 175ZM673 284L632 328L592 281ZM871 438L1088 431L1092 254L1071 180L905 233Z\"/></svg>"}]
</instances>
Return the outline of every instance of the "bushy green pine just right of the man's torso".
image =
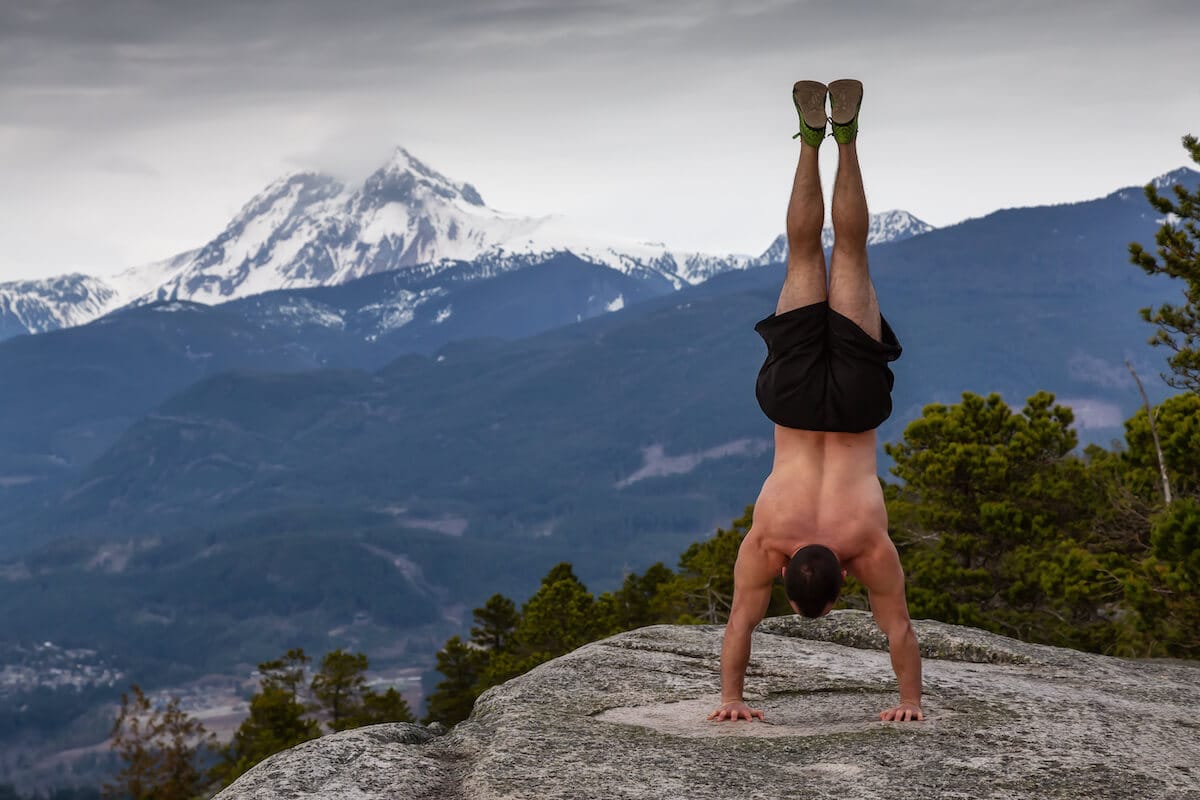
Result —
<instances>
[{"instance_id":1,"label":"bushy green pine just right of the man's torso","mask_svg":"<svg viewBox=\"0 0 1200 800\"><path fill-rule=\"evenodd\" d=\"M926 405L884 450L904 481L888 492L913 616L1040 642L1111 644L1092 522L1102 503L1073 456L1070 409L1038 392L1020 414L998 395Z\"/></svg>"}]
</instances>

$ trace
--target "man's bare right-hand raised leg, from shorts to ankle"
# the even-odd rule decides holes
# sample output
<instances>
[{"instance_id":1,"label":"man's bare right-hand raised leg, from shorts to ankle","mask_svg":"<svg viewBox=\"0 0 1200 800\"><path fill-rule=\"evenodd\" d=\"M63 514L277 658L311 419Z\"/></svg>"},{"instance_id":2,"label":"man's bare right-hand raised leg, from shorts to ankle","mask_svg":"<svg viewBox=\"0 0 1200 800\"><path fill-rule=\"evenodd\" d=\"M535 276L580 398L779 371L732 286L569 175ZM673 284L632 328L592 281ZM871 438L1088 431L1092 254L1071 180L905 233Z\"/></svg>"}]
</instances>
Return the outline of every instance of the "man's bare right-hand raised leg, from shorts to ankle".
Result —
<instances>
[{"instance_id":1,"label":"man's bare right-hand raised leg, from shorts to ankle","mask_svg":"<svg viewBox=\"0 0 1200 800\"><path fill-rule=\"evenodd\" d=\"M866 193L854 142L838 145L838 178L833 186L833 258L829 307L880 339L880 302L866 269Z\"/></svg>"}]
</instances>

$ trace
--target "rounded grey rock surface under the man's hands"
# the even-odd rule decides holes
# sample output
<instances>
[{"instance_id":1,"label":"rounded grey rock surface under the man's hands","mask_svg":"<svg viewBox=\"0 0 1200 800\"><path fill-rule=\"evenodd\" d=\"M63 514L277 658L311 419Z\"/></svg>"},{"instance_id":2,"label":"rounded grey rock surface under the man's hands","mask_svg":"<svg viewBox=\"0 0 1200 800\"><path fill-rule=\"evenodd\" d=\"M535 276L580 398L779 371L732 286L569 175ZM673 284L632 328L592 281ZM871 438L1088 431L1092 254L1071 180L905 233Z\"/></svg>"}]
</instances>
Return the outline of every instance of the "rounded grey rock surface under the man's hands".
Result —
<instances>
[{"instance_id":1,"label":"rounded grey rock surface under the man's hands","mask_svg":"<svg viewBox=\"0 0 1200 800\"><path fill-rule=\"evenodd\" d=\"M328 735L217 798L1200 798L1200 663L914 627L923 723L878 720L895 679L866 613L758 627L746 697L764 722L706 721L721 627L660 625L490 690L446 735Z\"/></svg>"}]
</instances>

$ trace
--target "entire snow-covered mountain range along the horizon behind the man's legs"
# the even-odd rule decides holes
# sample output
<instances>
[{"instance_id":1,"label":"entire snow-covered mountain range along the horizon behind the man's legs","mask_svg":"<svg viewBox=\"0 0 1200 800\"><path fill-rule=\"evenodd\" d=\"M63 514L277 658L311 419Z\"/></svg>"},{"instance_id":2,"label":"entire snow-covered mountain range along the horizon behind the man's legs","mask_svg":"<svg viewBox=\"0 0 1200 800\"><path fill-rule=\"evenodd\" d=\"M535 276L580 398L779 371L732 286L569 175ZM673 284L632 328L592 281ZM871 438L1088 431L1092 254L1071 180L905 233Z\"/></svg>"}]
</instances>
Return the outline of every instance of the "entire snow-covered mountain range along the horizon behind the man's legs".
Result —
<instances>
[{"instance_id":1,"label":"entire snow-covered mountain range along the horizon behind the man's legs","mask_svg":"<svg viewBox=\"0 0 1200 800\"><path fill-rule=\"evenodd\" d=\"M928 230L907 212L871 221L871 241ZM557 254L679 289L713 275L767 263L760 258L673 251L581 231L562 217L524 217L484 204L397 148L361 185L305 172L250 200L212 241L170 259L95 277L72 275L0 284L0 338L79 325L126 305L188 300L208 305L264 291L338 285L368 275L419 269L426 275L478 263L478 277L544 264ZM457 271L462 276L462 270Z\"/></svg>"}]
</instances>

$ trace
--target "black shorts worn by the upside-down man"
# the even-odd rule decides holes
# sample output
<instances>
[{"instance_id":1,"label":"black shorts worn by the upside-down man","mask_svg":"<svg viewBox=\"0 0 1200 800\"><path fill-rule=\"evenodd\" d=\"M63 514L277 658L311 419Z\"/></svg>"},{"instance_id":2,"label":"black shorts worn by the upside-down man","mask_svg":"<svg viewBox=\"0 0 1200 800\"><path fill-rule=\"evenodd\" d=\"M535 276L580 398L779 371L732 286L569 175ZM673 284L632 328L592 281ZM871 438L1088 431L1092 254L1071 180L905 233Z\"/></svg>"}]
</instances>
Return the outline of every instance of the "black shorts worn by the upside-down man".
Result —
<instances>
[{"instance_id":1,"label":"black shorts worn by the upside-down man","mask_svg":"<svg viewBox=\"0 0 1200 800\"><path fill-rule=\"evenodd\" d=\"M772 314L754 326L767 343L756 395L772 422L804 431L859 433L892 414L895 377L888 362L900 342L880 317L883 341L828 302Z\"/></svg>"}]
</instances>

